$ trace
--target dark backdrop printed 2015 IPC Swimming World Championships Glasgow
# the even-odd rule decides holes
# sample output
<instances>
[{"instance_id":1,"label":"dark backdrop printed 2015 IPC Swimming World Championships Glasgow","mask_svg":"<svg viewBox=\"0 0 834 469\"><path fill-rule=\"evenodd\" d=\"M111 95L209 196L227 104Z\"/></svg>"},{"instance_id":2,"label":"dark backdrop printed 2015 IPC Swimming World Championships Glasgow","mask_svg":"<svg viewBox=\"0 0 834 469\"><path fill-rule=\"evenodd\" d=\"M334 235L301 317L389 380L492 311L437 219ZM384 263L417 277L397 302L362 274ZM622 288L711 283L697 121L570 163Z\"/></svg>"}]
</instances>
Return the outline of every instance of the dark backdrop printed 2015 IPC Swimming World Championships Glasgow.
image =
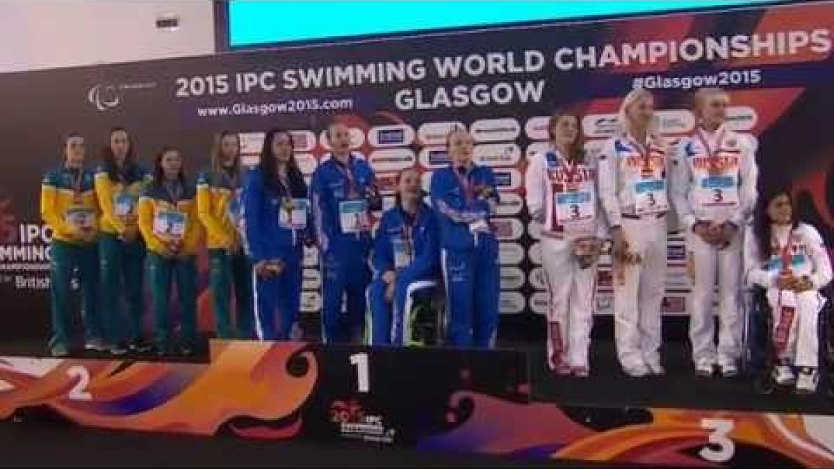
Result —
<instances>
[{"instance_id":1,"label":"dark backdrop printed 2015 IPC Swimming World Championships Glasgow","mask_svg":"<svg viewBox=\"0 0 834 469\"><path fill-rule=\"evenodd\" d=\"M38 215L43 171L60 160L60 135L88 138L90 164L113 125L130 129L150 164L163 144L183 149L195 174L208 164L212 134L242 135L254 164L263 131L294 131L299 164L310 174L328 151L323 129L335 115L353 129L354 146L388 191L400 169L444 166L445 134L465 126L475 159L495 169L502 203L503 337L543 335L547 298L538 230L523 204L530 154L546 148L547 115L576 108L585 148L595 154L615 129L620 98L631 88L656 92L662 132L675 139L696 124L687 110L694 89L730 90L730 127L756 145L761 183L790 180L801 214L831 240L829 131L834 4L671 14L623 21L543 24L424 37L282 48L94 68L0 76L5 146L0 171L0 337L48 331L48 230ZM391 203L388 199L386 207ZM676 230L672 217L670 229ZM321 305L314 250L305 259L307 319ZM666 313L686 313L686 252L669 243ZM212 327L201 262L201 325ZM597 306L609 314L610 260L602 260ZM519 325L519 327L515 327ZM315 334L318 328L309 328Z\"/></svg>"}]
</instances>

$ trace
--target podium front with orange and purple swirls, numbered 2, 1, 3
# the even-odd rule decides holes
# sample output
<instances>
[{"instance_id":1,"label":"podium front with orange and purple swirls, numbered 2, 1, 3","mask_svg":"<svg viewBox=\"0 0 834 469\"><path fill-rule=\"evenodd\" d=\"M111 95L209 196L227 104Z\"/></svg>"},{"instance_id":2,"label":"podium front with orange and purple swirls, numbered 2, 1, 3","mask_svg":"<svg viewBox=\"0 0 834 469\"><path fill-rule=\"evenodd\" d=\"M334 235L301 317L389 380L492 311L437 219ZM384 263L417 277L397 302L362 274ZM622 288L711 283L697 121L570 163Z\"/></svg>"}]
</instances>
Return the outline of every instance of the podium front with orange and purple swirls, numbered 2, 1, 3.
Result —
<instances>
[{"instance_id":1,"label":"podium front with orange and purple swirls, numbered 2, 1, 3","mask_svg":"<svg viewBox=\"0 0 834 469\"><path fill-rule=\"evenodd\" d=\"M0 357L0 420L520 459L831 466L834 416L530 401L515 350L214 341L208 364Z\"/></svg>"}]
</instances>

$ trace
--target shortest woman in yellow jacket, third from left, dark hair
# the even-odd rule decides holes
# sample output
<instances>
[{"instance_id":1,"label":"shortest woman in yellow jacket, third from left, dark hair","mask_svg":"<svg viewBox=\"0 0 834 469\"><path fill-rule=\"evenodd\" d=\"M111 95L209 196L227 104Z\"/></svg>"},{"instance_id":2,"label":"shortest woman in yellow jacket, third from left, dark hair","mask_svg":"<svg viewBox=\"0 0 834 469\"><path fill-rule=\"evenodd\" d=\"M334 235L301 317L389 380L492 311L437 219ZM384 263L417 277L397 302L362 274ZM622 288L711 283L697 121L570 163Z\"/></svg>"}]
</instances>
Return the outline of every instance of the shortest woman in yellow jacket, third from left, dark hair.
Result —
<instances>
[{"instance_id":1,"label":"shortest woman in yellow jacket, third from left, dark hair","mask_svg":"<svg viewBox=\"0 0 834 469\"><path fill-rule=\"evenodd\" d=\"M139 199L139 231L148 246L148 281L153 301L153 341L157 355L174 351L168 302L176 279L180 309L180 346L192 355L197 341L197 250L202 229L197 222L194 186L183 173L179 150L157 154L153 183Z\"/></svg>"}]
</instances>

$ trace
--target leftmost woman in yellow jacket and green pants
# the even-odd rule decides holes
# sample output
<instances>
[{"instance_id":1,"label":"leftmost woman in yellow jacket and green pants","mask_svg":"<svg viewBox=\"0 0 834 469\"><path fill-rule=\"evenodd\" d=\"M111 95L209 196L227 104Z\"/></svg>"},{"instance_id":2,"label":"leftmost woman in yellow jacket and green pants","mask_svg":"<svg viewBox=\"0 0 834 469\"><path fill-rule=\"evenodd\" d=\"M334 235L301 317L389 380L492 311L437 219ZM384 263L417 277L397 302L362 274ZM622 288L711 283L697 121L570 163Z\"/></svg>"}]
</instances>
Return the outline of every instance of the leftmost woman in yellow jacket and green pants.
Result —
<instances>
[{"instance_id":1,"label":"leftmost woman in yellow jacket and green pants","mask_svg":"<svg viewBox=\"0 0 834 469\"><path fill-rule=\"evenodd\" d=\"M105 350L97 298L98 204L93 191L93 173L83 168L83 137L69 134L63 153L63 164L44 174L41 183L41 218L52 229L49 264L53 337L49 349L53 356L69 354L70 295L76 269L81 280L84 348Z\"/></svg>"}]
</instances>

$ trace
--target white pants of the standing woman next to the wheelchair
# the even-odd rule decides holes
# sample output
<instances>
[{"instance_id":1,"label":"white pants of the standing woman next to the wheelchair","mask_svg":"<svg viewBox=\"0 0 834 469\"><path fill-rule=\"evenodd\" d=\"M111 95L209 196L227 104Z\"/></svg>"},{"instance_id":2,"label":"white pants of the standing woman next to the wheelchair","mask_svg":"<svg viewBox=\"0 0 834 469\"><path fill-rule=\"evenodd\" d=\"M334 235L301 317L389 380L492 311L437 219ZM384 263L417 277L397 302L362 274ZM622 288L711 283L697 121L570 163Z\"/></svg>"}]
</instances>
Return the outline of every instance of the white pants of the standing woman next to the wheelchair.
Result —
<instances>
[{"instance_id":1,"label":"white pants of the standing woman next to the wheelchair","mask_svg":"<svg viewBox=\"0 0 834 469\"><path fill-rule=\"evenodd\" d=\"M692 280L689 338L692 361L736 365L741 356L744 330L741 311L741 230L723 250L700 236L687 235L686 246ZM715 320L712 298L718 275L718 353L716 357Z\"/></svg>"}]
</instances>

